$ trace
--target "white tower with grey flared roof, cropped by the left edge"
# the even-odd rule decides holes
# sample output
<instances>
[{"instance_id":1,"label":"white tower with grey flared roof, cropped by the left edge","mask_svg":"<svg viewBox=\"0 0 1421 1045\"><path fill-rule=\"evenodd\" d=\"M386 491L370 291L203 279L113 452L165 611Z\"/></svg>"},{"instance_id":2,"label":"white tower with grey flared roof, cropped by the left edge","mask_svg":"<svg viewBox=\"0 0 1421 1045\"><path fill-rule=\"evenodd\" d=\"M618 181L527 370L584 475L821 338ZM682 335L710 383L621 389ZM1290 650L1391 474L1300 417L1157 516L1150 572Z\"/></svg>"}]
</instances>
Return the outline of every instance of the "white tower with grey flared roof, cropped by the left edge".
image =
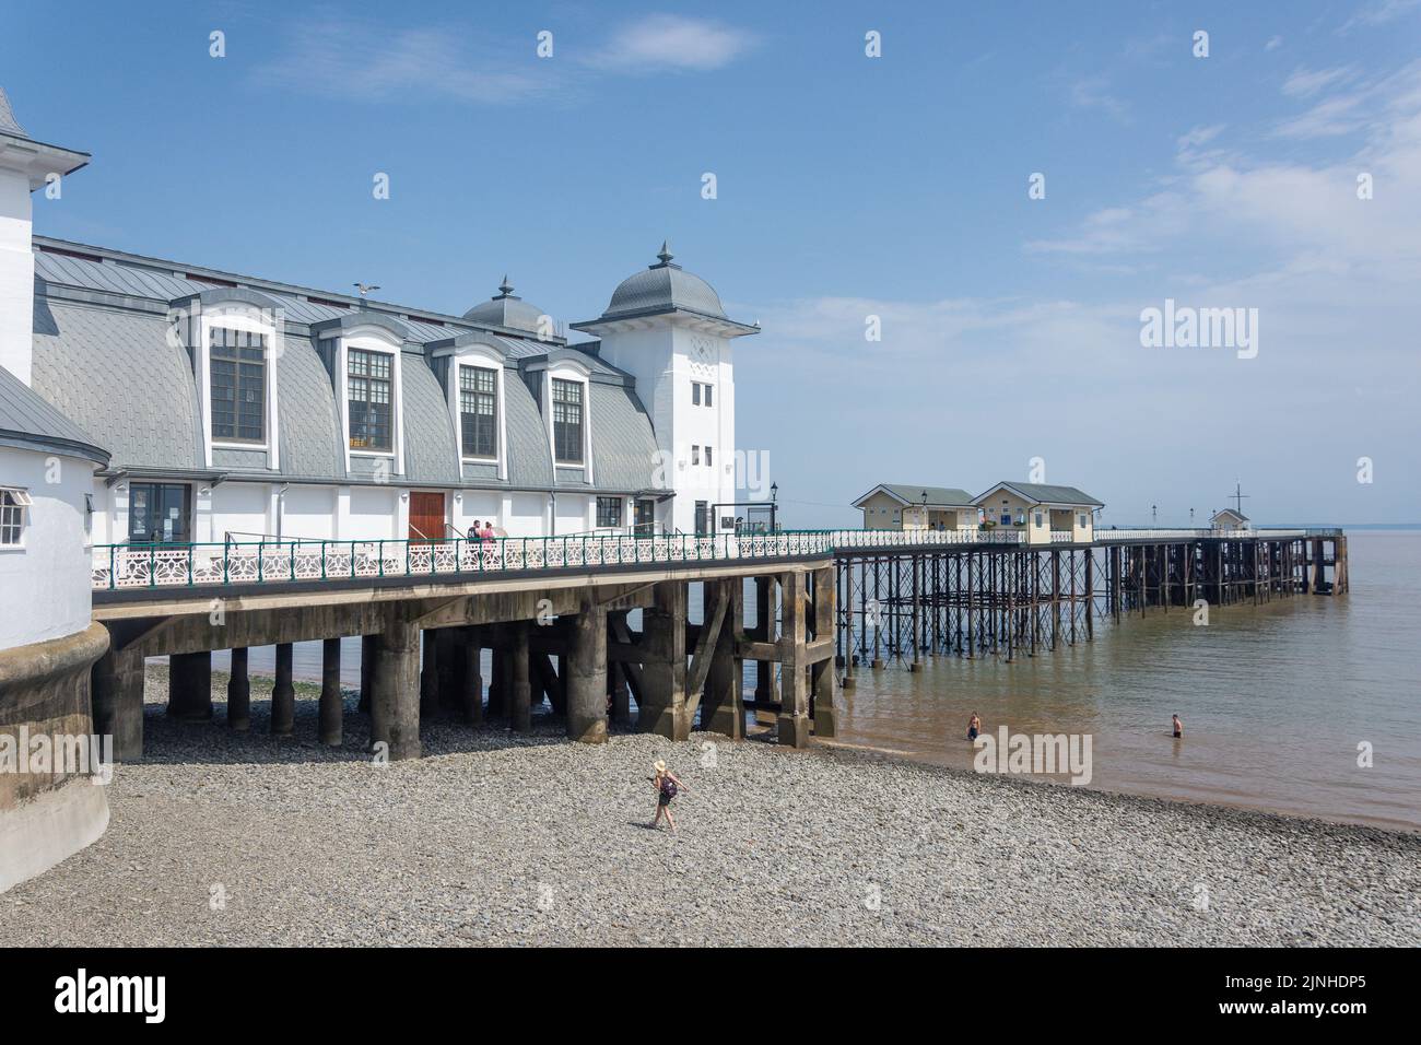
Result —
<instances>
[{"instance_id":1,"label":"white tower with grey flared roof, cropped by the left edge","mask_svg":"<svg viewBox=\"0 0 1421 1045\"><path fill-rule=\"evenodd\" d=\"M30 193L64 191L63 178L87 152L37 142L26 134L0 87L0 367L30 384L34 355L34 245Z\"/></svg>"}]
</instances>

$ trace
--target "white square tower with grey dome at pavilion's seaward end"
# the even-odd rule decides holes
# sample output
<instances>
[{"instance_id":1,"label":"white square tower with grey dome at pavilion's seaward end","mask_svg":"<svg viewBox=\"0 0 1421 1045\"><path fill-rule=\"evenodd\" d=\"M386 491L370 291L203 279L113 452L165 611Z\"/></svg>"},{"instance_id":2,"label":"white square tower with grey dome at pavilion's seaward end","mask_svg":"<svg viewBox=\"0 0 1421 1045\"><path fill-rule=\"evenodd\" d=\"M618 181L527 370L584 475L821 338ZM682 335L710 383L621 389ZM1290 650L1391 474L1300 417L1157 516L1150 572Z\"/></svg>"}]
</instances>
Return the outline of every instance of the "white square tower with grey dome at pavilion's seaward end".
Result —
<instances>
[{"instance_id":1,"label":"white square tower with grey dome at pavilion's seaward end","mask_svg":"<svg viewBox=\"0 0 1421 1045\"><path fill-rule=\"evenodd\" d=\"M657 485L675 492L658 513L662 526L715 533L736 515L730 343L760 331L729 318L715 289L672 264L665 243L657 259L621 282L601 317L573 328L600 337L601 358L637 378L657 432Z\"/></svg>"}]
</instances>

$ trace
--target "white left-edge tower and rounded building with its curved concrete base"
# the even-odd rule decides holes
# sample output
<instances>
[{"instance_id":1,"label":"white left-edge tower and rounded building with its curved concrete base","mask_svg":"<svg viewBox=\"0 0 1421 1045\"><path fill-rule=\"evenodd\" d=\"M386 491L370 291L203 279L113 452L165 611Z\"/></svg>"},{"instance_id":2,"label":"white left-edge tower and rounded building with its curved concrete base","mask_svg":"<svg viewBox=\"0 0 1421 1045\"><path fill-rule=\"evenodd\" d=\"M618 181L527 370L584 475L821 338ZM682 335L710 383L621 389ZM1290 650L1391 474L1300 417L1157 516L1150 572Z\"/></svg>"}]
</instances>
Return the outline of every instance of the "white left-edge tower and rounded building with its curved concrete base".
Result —
<instances>
[{"instance_id":1,"label":"white left-edge tower and rounded building with its curved concrete base","mask_svg":"<svg viewBox=\"0 0 1421 1045\"><path fill-rule=\"evenodd\" d=\"M90 674L108 631L90 618L88 498L109 455L30 385L30 193L82 152L31 138L0 90L0 891L104 833Z\"/></svg>"}]
</instances>

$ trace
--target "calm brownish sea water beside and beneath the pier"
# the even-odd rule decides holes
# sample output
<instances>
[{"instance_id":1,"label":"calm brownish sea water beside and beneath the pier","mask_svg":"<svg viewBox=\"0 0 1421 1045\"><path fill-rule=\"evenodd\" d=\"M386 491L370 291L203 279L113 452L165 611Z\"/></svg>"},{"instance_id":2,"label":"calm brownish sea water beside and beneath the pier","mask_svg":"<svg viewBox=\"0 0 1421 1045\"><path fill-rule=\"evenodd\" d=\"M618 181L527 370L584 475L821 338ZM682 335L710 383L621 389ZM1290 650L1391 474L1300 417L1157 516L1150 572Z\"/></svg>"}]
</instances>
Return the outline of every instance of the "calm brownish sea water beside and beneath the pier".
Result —
<instances>
[{"instance_id":1,"label":"calm brownish sea water beside and beneath the pier","mask_svg":"<svg viewBox=\"0 0 1421 1045\"><path fill-rule=\"evenodd\" d=\"M1012 664L863 670L840 739L969 768L976 711L993 735L1090 734L1093 788L1421 830L1421 533L1351 532L1349 553L1347 596L1215 609L1208 627L1151 610ZM341 660L358 685L358 641ZM297 645L298 677L320 664L320 643ZM252 670L270 672L270 648ZM1371 768L1357 765L1361 742Z\"/></svg>"}]
</instances>

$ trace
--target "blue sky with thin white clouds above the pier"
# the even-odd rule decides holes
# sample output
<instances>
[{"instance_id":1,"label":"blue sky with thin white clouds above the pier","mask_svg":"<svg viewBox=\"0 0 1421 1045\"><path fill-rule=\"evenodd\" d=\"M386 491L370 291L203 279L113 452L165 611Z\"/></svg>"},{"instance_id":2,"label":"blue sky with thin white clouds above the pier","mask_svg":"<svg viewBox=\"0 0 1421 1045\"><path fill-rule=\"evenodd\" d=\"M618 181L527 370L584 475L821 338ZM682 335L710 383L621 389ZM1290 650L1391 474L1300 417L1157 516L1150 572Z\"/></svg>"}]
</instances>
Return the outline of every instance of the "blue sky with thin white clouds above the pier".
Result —
<instances>
[{"instance_id":1,"label":"blue sky with thin white clouds above the pier","mask_svg":"<svg viewBox=\"0 0 1421 1045\"><path fill-rule=\"evenodd\" d=\"M796 525L1032 458L1107 525L1236 478L1421 520L1418 0L881 7L33 4L0 85L94 154L54 236L452 313L507 272L560 320L669 237L763 324L739 442ZM1258 309L1256 357L1142 347L1165 299Z\"/></svg>"}]
</instances>

